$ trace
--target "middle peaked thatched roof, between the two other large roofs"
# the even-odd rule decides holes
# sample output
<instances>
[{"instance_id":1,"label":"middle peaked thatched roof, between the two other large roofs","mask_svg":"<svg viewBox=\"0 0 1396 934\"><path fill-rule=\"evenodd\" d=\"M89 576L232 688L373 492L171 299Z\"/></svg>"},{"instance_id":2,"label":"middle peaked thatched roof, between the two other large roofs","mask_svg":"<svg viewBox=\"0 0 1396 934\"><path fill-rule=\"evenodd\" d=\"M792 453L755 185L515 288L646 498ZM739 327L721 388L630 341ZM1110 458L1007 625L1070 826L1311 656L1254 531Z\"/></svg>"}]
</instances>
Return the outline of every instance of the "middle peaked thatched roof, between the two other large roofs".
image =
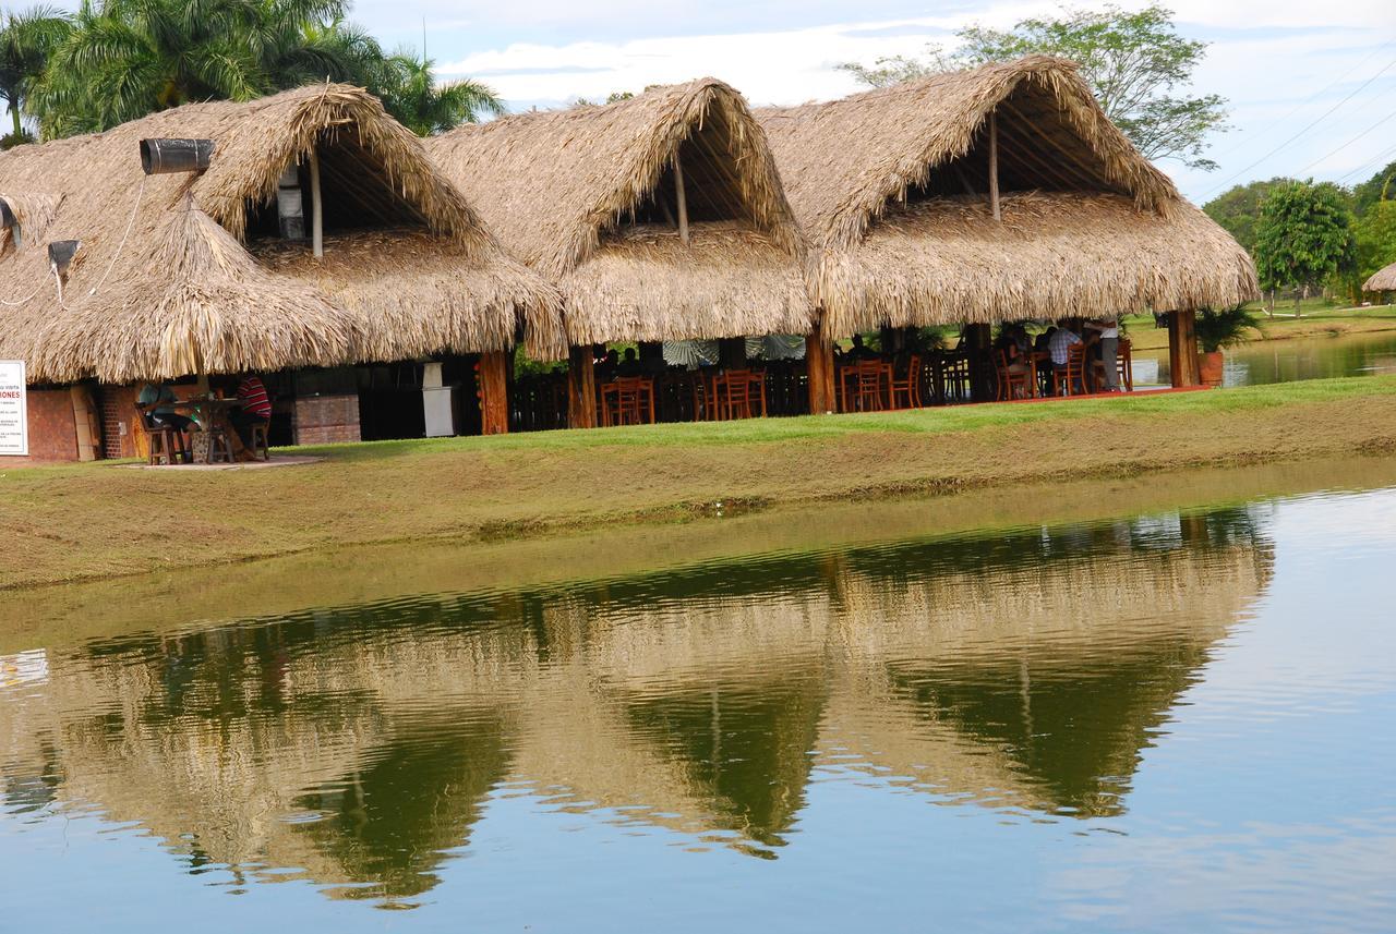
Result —
<instances>
[{"instance_id":1,"label":"middle peaked thatched roof, between the two other large roofs","mask_svg":"<svg viewBox=\"0 0 1396 934\"><path fill-rule=\"evenodd\" d=\"M720 81L466 125L427 151L561 287L574 344L810 330L801 240L765 134Z\"/></svg>"}]
</instances>

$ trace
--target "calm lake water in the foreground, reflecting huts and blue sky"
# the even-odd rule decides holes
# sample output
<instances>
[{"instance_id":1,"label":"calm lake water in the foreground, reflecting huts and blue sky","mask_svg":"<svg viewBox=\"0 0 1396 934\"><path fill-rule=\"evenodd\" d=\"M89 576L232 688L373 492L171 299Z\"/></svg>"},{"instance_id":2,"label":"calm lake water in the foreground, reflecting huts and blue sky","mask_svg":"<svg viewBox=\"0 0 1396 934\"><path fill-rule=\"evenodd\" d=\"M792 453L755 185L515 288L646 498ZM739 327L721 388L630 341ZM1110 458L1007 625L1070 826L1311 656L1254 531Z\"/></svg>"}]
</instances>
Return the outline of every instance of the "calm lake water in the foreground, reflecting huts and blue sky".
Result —
<instances>
[{"instance_id":1,"label":"calm lake water in the foreground, reflecting huts and blue sky","mask_svg":"<svg viewBox=\"0 0 1396 934\"><path fill-rule=\"evenodd\" d=\"M0 659L0 928L1390 930L1393 567L1396 487L75 612Z\"/></svg>"}]
</instances>

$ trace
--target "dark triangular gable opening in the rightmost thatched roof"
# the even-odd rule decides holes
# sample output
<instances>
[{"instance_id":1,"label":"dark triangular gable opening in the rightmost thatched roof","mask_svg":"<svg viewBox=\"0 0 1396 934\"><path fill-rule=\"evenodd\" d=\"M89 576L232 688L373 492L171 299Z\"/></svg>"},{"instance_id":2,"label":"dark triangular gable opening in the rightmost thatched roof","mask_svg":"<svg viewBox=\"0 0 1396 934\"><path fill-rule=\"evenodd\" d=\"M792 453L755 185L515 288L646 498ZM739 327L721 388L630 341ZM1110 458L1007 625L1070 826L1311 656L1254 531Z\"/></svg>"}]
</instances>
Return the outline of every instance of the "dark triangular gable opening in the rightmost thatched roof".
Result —
<instances>
[{"instance_id":1,"label":"dark triangular gable opening in the rightmost thatched roof","mask_svg":"<svg viewBox=\"0 0 1396 934\"><path fill-rule=\"evenodd\" d=\"M994 110L998 134L998 190L1110 191L1127 194L1106 176L1104 162L1071 127L1061 106L1037 88L1019 85ZM990 174L990 128L986 120L969 152L935 167L923 185L906 192L907 204L949 195L986 197Z\"/></svg>"}]
</instances>

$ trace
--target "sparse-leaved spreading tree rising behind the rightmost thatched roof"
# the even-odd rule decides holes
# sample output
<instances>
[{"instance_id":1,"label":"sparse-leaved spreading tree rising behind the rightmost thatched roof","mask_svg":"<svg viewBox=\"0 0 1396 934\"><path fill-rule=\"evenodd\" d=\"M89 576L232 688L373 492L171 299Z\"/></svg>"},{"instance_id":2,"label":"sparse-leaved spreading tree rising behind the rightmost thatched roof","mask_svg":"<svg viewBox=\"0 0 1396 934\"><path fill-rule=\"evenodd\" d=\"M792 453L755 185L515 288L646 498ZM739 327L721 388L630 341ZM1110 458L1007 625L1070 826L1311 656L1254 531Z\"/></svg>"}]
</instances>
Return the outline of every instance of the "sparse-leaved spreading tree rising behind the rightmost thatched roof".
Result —
<instances>
[{"instance_id":1,"label":"sparse-leaved spreading tree rising behind the rightmost thatched roof","mask_svg":"<svg viewBox=\"0 0 1396 934\"><path fill-rule=\"evenodd\" d=\"M1206 43L1180 36L1171 10L1064 10L1058 18L1029 18L1008 31L973 25L955 35L960 45L951 53L931 46L924 59L893 56L874 66L839 67L864 84L886 86L1026 54L1060 56L1081 66L1101 109L1146 159L1216 169L1202 153L1208 135L1224 128L1226 100L1175 93L1191 82Z\"/></svg>"}]
</instances>

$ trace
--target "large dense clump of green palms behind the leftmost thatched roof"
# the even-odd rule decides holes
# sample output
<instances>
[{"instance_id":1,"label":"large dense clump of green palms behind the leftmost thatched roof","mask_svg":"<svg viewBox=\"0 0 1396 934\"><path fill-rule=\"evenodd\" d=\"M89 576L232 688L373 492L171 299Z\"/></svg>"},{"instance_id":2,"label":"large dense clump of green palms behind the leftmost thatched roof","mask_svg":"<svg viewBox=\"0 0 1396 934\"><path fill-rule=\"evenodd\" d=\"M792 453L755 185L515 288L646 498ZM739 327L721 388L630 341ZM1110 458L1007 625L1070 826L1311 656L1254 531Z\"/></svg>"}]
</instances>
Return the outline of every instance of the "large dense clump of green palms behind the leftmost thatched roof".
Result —
<instances>
[{"instance_id":1,"label":"large dense clump of green palms behind the leftmost thatched roof","mask_svg":"<svg viewBox=\"0 0 1396 934\"><path fill-rule=\"evenodd\" d=\"M348 0L82 0L28 106L45 135L194 100L247 100L366 63ZM374 46L376 47L376 43ZM371 50L371 49L370 49Z\"/></svg>"}]
</instances>

